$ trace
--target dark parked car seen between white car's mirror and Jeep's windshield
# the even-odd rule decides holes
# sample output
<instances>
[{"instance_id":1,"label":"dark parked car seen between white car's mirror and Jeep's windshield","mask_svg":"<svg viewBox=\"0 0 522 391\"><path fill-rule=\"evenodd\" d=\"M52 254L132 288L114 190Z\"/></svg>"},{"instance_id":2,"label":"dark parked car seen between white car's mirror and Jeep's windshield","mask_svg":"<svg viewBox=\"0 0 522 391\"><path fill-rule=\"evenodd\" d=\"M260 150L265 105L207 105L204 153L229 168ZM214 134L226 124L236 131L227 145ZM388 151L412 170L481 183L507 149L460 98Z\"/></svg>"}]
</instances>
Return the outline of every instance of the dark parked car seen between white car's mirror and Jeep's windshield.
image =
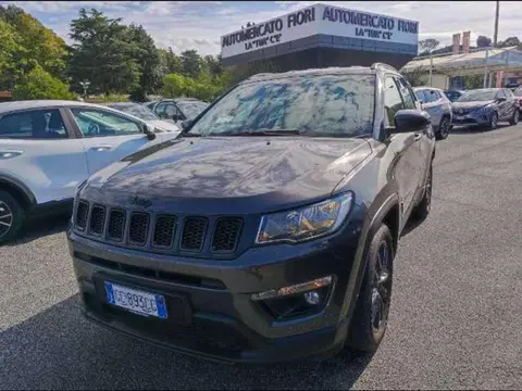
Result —
<instances>
[{"instance_id":1,"label":"dark parked car seen between white car's mirror and Jeep's windshield","mask_svg":"<svg viewBox=\"0 0 522 391\"><path fill-rule=\"evenodd\" d=\"M181 124L186 119L196 118L209 103L191 98L163 99L147 104L162 119L172 119Z\"/></svg>"}]
</instances>

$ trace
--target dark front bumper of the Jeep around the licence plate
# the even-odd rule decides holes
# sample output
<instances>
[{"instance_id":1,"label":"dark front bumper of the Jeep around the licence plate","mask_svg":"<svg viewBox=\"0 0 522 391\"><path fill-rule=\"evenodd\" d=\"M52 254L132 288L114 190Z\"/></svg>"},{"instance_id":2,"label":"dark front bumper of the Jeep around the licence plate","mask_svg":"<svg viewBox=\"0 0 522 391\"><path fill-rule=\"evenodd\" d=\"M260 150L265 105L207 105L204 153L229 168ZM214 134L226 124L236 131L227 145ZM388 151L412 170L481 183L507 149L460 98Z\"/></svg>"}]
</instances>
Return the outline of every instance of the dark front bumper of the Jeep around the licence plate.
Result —
<instances>
[{"instance_id":1,"label":"dark front bumper of the Jeep around the licence plate","mask_svg":"<svg viewBox=\"0 0 522 391\"><path fill-rule=\"evenodd\" d=\"M298 245L251 248L233 261L195 260L108 245L69 230L84 314L101 326L182 353L227 363L276 363L330 356L344 345L357 294L347 287L360 239L358 209L331 237ZM150 273L149 270L157 270ZM332 275L318 313L277 320L252 293ZM170 278L158 278L170 276ZM166 298L172 318L135 315L108 304L109 280Z\"/></svg>"}]
</instances>

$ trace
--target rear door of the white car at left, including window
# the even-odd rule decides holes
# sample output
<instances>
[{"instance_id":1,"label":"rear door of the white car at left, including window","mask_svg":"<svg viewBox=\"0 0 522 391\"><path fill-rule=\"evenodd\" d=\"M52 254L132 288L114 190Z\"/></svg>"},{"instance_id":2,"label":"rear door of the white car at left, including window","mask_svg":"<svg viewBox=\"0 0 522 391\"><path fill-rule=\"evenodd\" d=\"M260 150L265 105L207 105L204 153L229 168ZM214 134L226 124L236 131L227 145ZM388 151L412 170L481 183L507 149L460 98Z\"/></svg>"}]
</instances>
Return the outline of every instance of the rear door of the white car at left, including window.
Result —
<instances>
[{"instance_id":1,"label":"rear door of the white car at left, including window","mask_svg":"<svg viewBox=\"0 0 522 391\"><path fill-rule=\"evenodd\" d=\"M67 200L89 175L82 141L63 109L0 117L0 174L22 181L38 204Z\"/></svg>"}]
</instances>

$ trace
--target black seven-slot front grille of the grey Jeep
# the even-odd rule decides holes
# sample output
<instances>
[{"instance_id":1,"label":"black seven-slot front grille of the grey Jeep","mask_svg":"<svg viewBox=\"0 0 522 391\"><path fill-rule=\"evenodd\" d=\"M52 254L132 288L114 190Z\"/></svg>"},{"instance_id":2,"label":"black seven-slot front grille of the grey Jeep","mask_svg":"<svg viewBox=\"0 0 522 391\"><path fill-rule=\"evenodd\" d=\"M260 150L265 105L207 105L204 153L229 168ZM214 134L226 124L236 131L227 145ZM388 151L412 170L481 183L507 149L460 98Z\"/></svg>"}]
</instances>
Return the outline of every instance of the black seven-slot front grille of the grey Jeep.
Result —
<instances>
[{"instance_id":1,"label":"black seven-slot front grille of the grey Jeep","mask_svg":"<svg viewBox=\"0 0 522 391\"><path fill-rule=\"evenodd\" d=\"M74 229L98 241L158 253L231 257L244 229L240 216L174 215L78 200Z\"/></svg>"}]
</instances>

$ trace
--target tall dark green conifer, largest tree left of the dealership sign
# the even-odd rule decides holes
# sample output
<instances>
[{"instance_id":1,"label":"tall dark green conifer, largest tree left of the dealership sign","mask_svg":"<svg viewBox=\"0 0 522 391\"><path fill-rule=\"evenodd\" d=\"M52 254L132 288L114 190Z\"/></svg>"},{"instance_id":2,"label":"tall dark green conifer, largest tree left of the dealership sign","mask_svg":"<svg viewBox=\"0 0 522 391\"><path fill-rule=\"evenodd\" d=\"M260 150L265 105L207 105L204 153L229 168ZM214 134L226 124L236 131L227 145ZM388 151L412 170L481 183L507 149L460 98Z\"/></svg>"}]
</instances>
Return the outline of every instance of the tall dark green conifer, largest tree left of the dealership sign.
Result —
<instances>
[{"instance_id":1,"label":"tall dark green conifer, largest tree left of the dealership sign","mask_svg":"<svg viewBox=\"0 0 522 391\"><path fill-rule=\"evenodd\" d=\"M140 67L135 59L139 45L120 22L95 9L90 13L79 10L79 17L71 22L71 38L76 42L71 56L75 87L85 79L90 90L105 94L139 87Z\"/></svg>"}]
</instances>

